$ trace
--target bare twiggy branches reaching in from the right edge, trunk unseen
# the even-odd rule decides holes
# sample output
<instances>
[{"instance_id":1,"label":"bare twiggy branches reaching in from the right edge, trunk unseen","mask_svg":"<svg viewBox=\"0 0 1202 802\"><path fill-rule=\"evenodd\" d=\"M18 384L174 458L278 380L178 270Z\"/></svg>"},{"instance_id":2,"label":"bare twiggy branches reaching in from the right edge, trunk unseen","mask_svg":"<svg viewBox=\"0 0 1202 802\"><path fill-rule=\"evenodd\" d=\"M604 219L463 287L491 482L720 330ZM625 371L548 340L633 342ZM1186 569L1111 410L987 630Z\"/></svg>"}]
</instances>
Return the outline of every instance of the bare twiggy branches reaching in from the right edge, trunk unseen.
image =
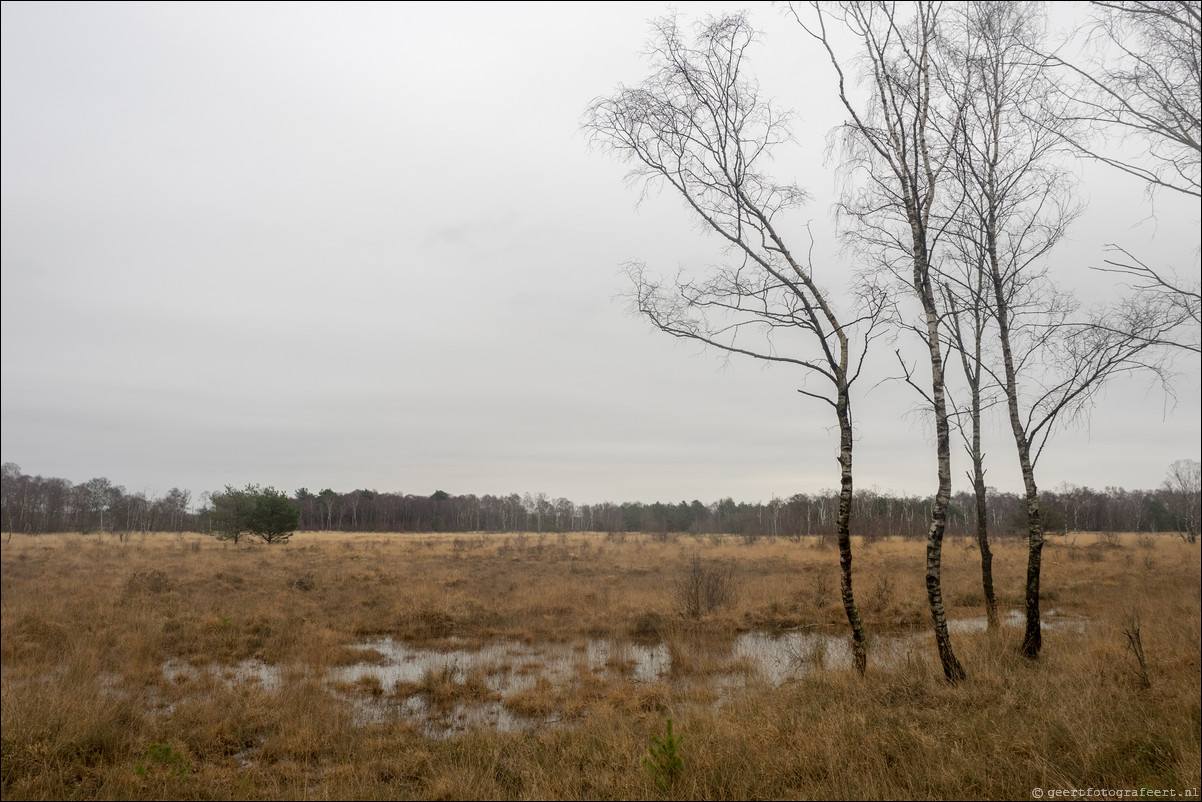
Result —
<instances>
[{"instance_id":1,"label":"bare twiggy branches reaching in from the right edge, trunk unseen","mask_svg":"<svg viewBox=\"0 0 1202 802\"><path fill-rule=\"evenodd\" d=\"M1095 0L1085 55L1045 57L1061 81L1067 117L1083 125L1065 139L1081 155L1144 182L1149 192L1202 197L1202 2ZM1121 244L1097 269L1126 277L1130 314L1120 332L1202 354L1198 254L1184 274L1154 267Z\"/></svg>"}]
</instances>

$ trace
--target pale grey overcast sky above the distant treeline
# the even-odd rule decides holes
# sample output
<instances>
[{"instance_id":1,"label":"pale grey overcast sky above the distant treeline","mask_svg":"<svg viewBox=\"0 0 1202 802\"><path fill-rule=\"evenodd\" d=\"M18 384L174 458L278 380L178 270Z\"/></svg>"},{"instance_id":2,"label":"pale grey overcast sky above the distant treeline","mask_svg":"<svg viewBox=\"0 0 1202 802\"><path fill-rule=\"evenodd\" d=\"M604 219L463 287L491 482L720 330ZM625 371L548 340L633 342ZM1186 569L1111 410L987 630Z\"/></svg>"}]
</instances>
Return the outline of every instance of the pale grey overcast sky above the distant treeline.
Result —
<instances>
[{"instance_id":1,"label":"pale grey overcast sky above the distant treeline","mask_svg":"<svg viewBox=\"0 0 1202 802\"><path fill-rule=\"evenodd\" d=\"M620 298L626 260L672 273L719 255L579 129L590 100L644 77L665 5L2 8L5 462L150 494L710 501L835 485L833 421L801 376L654 333ZM752 20L764 90L797 111L781 178L813 192L835 283L833 78L776 10ZM1195 208L1079 171L1089 212L1061 283L1115 292L1088 269L1115 240L1196 273ZM1177 369L1176 398L1113 385L1041 485L1154 487L1197 458L1197 360ZM874 370L857 482L929 493L917 398L888 360ZM1017 489L990 426L989 481Z\"/></svg>"}]
</instances>

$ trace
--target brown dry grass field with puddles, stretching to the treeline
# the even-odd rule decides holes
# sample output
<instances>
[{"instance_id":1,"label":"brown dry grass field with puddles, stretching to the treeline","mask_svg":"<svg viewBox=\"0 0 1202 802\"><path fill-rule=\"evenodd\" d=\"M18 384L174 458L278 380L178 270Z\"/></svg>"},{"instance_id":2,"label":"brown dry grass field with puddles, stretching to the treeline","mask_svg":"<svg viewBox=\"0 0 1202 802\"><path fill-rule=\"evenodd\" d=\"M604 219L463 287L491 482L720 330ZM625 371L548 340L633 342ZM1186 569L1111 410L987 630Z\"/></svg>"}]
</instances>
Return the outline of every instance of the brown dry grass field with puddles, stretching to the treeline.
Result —
<instances>
[{"instance_id":1,"label":"brown dry grass field with puddles, stretching to the treeline","mask_svg":"<svg viewBox=\"0 0 1202 802\"><path fill-rule=\"evenodd\" d=\"M939 671L922 566L921 542L857 541L857 595L877 636L861 678L838 659L837 554L817 540L300 533L234 547L17 535L2 543L0 790L1197 795L1197 546L1053 539L1049 629L1029 663L1019 629L980 625L975 546L948 542L945 598L969 671L959 685ZM1025 546L998 542L994 571L1002 607L1018 610ZM791 643L795 659L774 673L739 650L752 642ZM475 723L471 711L483 712ZM670 718L683 738L674 768L649 749Z\"/></svg>"}]
</instances>

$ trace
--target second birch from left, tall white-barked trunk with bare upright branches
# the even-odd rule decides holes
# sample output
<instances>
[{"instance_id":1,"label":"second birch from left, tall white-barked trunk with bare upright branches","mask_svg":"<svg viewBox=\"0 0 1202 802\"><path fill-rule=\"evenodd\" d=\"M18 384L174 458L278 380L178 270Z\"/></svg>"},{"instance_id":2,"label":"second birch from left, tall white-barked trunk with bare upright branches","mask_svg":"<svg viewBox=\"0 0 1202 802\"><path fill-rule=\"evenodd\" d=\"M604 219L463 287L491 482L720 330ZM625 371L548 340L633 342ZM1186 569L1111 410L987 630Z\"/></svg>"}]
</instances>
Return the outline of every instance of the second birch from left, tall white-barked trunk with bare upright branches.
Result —
<instances>
[{"instance_id":1,"label":"second birch from left, tall white-barked trunk with bare upright branches","mask_svg":"<svg viewBox=\"0 0 1202 802\"><path fill-rule=\"evenodd\" d=\"M935 423L938 489L927 533L927 599L944 675L965 677L952 649L942 596L942 542L952 491L951 436L946 399L942 311L938 302L935 249L941 220L934 214L953 156L935 126L954 119L959 99L940 93L935 76L939 2L915 2L903 11L885 1L792 6L803 29L817 40L838 76L839 99L849 114L845 142L863 183L841 203L855 221L852 236L889 272L905 275L922 308L912 326L930 360L930 390L922 390ZM847 85L849 59L837 53L828 22L850 32L869 100L858 102ZM945 123L946 127L946 123ZM917 386L917 385L915 385Z\"/></svg>"}]
</instances>

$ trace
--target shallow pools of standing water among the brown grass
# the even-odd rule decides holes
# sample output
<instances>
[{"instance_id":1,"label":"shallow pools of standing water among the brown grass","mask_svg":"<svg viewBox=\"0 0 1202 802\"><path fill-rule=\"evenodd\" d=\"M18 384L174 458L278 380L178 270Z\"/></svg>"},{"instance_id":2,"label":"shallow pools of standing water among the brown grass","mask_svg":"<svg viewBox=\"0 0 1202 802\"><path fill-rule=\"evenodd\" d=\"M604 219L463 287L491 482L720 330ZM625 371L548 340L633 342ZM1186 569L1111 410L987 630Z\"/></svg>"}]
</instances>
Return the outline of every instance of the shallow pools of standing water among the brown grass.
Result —
<instances>
[{"instance_id":1,"label":"shallow pools of standing water among the brown grass","mask_svg":"<svg viewBox=\"0 0 1202 802\"><path fill-rule=\"evenodd\" d=\"M1046 630L1082 632L1088 623L1061 616L1043 616ZM1023 613L1011 611L1002 626L1023 624ZM984 618L950 622L953 632L983 631ZM869 663L889 670L929 659L934 649L928 631L870 636ZM694 696L721 706L751 685L792 682L817 669L852 666L847 636L804 630L744 632L721 646L676 638L667 643L585 640L569 643L501 641L486 646L452 643L448 648L421 648L391 637L356 644L359 663L331 669L321 678L343 699L358 724L400 718L412 721L430 738L446 738L470 729L523 731L563 725L572 718L572 695L611 684L692 687ZM233 666L196 666L168 660L162 666L173 684L221 682L226 687L252 683L268 693L287 681L287 669L257 660ZM162 708L169 712L171 706Z\"/></svg>"}]
</instances>

